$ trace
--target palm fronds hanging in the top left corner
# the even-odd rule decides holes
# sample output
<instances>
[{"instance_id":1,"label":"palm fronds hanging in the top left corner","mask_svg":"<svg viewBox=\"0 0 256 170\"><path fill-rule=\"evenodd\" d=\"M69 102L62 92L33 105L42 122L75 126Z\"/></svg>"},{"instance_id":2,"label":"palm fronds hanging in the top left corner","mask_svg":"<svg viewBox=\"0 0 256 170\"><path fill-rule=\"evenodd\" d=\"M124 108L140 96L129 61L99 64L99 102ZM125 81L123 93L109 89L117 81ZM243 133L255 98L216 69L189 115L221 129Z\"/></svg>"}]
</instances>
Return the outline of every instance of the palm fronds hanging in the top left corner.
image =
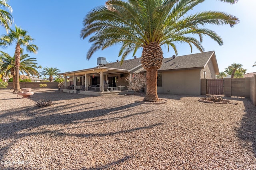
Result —
<instances>
[{"instance_id":1,"label":"palm fronds hanging in the top left corner","mask_svg":"<svg viewBox=\"0 0 256 170\"><path fill-rule=\"evenodd\" d=\"M8 33L9 26L12 25L12 7L7 4L8 0L0 0L0 24L5 27ZM8 10L8 11L6 11Z\"/></svg>"}]
</instances>

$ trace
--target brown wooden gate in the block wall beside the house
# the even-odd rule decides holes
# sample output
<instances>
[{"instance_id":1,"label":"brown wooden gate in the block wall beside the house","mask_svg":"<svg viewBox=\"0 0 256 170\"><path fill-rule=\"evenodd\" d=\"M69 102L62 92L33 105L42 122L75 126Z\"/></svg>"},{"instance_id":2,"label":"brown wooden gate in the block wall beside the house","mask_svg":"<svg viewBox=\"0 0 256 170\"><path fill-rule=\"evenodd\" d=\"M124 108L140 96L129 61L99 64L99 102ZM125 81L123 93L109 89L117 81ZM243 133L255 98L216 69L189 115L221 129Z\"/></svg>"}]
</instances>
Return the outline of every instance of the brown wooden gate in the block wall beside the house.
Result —
<instances>
[{"instance_id":1,"label":"brown wooden gate in the block wall beside the house","mask_svg":"<svg viewBox=\"0 0 256 170\"><path fill-rule=\"evenodd\" d=\"M224 95L224 79L207 79L207 94Z\"/></svg>"}]
</instances>

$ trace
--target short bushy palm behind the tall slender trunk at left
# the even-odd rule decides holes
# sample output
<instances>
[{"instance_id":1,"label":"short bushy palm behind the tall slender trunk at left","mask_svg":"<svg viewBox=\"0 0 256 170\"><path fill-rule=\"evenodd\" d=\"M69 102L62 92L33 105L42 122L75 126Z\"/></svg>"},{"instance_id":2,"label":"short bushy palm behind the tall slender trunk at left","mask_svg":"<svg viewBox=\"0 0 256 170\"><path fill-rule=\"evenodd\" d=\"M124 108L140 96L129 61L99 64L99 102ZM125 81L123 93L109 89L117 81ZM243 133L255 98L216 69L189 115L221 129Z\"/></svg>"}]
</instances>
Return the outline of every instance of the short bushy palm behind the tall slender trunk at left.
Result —
<instances>
[{"instance_id":1,"label":"short bushy palm behind the tall slender trunk at left","mask_svg":"<svg viewBox=\"0 0 256 170\"><path fill-rule=\"evenodd\" d=\"M15 56L11 57L8 53L0 51L0 57L2 57L3 63L0 65L0 72L4 72L4 76L10 73L13 78L13 89L16 84L16 74L15 74ZM22 54L20 56L20 72L22 74L26 73L28 76L37 75L38 71L34 68L37 63L36 58L31 58L28 54Z\"/></svg>"}]
</instances>

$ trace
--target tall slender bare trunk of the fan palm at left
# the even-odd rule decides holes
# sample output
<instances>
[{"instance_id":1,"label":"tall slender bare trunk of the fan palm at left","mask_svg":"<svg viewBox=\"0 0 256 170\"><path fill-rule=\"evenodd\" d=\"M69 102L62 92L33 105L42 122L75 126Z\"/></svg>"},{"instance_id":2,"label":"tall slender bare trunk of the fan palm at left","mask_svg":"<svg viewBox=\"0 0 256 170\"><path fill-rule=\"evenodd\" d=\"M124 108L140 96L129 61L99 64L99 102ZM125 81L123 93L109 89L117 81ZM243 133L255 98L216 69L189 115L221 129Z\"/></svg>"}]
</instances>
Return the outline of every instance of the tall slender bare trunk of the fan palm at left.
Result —
<instances>
[{"instance_id":1,"label":"tall slender bare trunk of the fan palm at left","mask_svg":"<svg viewBox=\"0 0 256 170\"><path fill-rule=\"evenodd\" d=\"M15 87L14 93L18 93L21 91L20 89L20 44L17 43L15 47Z\"/></svg>"}]
</instances>

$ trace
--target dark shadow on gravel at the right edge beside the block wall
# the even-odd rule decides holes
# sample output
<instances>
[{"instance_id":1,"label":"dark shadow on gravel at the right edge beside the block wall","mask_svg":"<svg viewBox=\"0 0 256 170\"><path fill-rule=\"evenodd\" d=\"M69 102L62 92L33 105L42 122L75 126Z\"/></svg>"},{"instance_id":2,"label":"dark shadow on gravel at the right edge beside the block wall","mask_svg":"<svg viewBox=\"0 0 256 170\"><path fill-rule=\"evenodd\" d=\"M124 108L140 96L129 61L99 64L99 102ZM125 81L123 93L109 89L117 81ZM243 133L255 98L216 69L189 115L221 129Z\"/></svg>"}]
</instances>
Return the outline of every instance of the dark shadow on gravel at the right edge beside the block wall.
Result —
<instances>
[{"instance_id":1,"label":"dark shadow on gravel at the right edge beside the block wall","mask_svg":"<svg viewBox=\"0 0 256 170\"><path fill-rule=\"evenodd\" d=\"M241 125L237 130L237 136L246 142L245 144L241 144L243 147L251 148L248 143L252 143L252 151L256 157L256 106L254 106L252 102L246 101L244 102L244 107L246 114L240 121Z\"/></svg>"}]
</instances>

